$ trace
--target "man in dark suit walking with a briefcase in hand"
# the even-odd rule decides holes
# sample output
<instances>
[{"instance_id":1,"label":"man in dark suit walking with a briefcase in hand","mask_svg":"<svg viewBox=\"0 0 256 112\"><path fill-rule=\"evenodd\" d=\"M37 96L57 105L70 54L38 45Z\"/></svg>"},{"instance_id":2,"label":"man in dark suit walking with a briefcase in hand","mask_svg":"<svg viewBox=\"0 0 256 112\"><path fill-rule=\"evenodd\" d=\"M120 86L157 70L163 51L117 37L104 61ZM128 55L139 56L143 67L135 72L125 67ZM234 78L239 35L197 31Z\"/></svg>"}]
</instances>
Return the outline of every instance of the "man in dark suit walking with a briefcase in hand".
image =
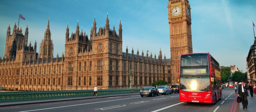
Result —
<instances>
[{"instance_id":1,"label":"man in dark suit walking with a briefcase in hand","mask_svg":"<svg viewBox=\"0 0 256 112\"><path fill-rule=\"evenodd\" d=\"M248 90L248 86L244 83L244 81L242 81L242 84L239 84L239 87L238 87L238 96L240 96L242 99L243 109L247 108L247 106L248 106L248 100L247 100L248 91L247 90Z\"/></svg>"}]
</instances>

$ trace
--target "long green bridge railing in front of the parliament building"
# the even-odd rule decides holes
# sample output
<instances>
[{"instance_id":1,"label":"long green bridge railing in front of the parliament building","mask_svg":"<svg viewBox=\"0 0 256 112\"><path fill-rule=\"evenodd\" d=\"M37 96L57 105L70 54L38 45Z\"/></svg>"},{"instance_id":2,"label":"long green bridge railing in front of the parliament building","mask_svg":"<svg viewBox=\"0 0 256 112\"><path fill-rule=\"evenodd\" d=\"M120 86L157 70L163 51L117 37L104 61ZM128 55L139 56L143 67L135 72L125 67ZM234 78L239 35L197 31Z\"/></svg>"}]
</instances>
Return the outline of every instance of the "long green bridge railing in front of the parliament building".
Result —
<instances>
[{"instance_id":1,"label":"long green bridge railing in front of the parliament building","mask_svg":"<svg viewBox=\"0 0 256 112\"><path fill-rule=\"evenodd\" d=\"M98 94L100 96L111 95L111 94L129 94L132 91L134 91L134 93L139 93L140 88L136 88L133 90L131 89L98 90ZM84 96L93 96L93 90L1 92L0 102L56 99L56 98L84 97Z\"/></svg>"}]
</instances>

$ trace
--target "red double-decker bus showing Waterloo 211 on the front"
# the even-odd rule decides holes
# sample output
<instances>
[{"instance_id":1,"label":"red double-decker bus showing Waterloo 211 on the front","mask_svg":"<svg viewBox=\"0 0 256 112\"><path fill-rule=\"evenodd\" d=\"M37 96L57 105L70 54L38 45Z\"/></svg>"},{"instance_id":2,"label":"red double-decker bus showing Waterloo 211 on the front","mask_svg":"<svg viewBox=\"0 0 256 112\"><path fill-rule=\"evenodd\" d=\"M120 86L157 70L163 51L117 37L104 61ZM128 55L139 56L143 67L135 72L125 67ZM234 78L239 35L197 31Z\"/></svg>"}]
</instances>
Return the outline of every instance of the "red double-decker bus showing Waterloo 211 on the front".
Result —
<instances>
[{"instance_id":1,"label":"red double-decker bus showing Waterloo 211 on the front","mask_svg":"<svg viewBox=\"0 0 256 112\"><path fill-rule=\"evenodd\" d=\"M180 102L215 104L222 97L219 63L209 53L181 55Z\"/></svg>"}]
</instances>

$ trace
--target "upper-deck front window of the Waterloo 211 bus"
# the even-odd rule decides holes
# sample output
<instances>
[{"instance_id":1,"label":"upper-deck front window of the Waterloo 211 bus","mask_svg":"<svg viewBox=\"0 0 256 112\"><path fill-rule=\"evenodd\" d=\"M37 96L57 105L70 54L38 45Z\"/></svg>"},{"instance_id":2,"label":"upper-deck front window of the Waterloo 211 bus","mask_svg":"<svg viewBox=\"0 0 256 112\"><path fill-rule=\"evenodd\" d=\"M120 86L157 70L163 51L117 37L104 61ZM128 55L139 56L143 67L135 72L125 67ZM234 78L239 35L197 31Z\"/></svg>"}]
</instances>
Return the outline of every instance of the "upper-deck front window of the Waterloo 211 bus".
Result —
<instances>
[{"instance_id":1,"label":"upper-deck front window of the Waterloo 211 bus","mask_svg":"<svg viewBox=\"0 0 256 112\"><path fill-rule=\"evenodd\" d=\"M180 66L208 66L208 54L182 55Z\"/></svg>"}]
</instances>

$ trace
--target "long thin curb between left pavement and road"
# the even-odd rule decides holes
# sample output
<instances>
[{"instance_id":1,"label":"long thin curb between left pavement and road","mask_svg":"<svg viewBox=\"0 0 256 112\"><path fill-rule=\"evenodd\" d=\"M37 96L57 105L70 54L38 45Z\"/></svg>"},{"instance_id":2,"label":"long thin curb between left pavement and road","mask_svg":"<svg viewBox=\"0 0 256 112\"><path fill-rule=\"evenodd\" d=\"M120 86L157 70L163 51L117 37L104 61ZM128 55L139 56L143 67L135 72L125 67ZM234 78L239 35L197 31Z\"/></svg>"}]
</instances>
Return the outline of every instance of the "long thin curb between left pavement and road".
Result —
<instances>
[{"instance_id":1,"label":"long thin curb between left pavement and road","mask_svg":"<svg viewBox=\"0 0 256 112\"><path fill-rule=\"evenodd\" d=\"M130 95L134 95L134 94L123 94L123 95L101 96L101 97L88 97L88 98L67 99L67 100L53 100L53 101L42 101L42 102L29 102L29 103L16 103L16 104L0 105L0 107L18 106L18 105L31 105L31 104L40 104L40 103L53 103L53 102L66 102L66 101L73 101L73 100L97 99L97 98L105 98L105 97L130 96Z\"/></svg>"}]
</instances>

